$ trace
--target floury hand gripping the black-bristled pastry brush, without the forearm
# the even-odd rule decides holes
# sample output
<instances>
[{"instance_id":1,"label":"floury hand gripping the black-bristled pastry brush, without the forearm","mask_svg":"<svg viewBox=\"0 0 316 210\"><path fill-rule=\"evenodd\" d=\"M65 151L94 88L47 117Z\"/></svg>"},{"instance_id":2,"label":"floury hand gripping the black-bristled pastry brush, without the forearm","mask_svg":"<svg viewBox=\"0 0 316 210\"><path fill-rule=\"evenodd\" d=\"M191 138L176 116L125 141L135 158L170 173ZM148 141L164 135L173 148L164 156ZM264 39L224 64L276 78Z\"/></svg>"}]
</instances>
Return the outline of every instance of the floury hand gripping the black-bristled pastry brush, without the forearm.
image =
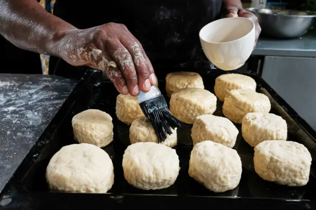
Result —
<instances>
[{"instance_id":1,"label":"floury hand gripping the black-bristled pastry brush, without the forearm","mask_svg":"<svg viewBox=\"0 0 316 210\"><path fill-rule=\"evenodd\" d=\"M157 82L142 45L122 24L69 31L60 46L66 62L104 71L121 94L138 96Z\"/></svg>"}]
</instances>

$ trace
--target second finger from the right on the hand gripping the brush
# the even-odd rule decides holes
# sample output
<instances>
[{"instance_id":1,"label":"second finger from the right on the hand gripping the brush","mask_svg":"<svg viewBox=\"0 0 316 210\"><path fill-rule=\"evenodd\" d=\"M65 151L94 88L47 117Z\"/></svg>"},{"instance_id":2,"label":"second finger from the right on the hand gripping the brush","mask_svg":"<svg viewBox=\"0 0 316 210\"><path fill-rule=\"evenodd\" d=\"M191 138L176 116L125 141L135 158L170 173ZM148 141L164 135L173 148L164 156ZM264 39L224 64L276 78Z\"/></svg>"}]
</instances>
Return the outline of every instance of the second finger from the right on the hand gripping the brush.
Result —
<instances>
[{"instance_id":1,"label":"second finger from the right on the hand gripping the brush","mask_svg":"<svg viewBox=\"0 0 316 210\"><path fill-rule=\"evenodd\" d=\"M128 35L129 34L129 35ZM132 34L128 33L129 37L133 37ZM128 52L133 57L133 61L135 64L135 70L137 72L138 77L138 85L139 88L143 92L150 91L152 86L150 81L150 71L148 69L148 63L143 55L143 51L141 49L141 44L137 43L137 39L133 37L132 39L127 39L125 37L121 37L120 41L128 50Z\"/></svg>"}]
</instances>

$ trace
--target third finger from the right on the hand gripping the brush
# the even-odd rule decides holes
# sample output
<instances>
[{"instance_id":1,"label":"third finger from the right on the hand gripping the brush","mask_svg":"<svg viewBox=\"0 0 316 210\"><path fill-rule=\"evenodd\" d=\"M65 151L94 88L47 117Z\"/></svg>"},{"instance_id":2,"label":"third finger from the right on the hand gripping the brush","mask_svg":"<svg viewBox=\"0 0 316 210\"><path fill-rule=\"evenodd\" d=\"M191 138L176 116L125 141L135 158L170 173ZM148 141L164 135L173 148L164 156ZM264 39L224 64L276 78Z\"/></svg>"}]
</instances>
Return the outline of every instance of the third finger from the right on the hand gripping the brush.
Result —
<instances>
[{"instance_id":1,"label":"third finger from the right on the hand gripping the brush","mask_svg":"<svg viewBox=\"0 0 316 210\"><path fill-rule=\"evenodd\" d=\"M107 50L117 63L122 75L125 78L129 94L138 96L139 86L138 78L135 70L133 58L128 50L119 42L119 40L111 41L107 45Z\"/></svg>"}]
</instances>

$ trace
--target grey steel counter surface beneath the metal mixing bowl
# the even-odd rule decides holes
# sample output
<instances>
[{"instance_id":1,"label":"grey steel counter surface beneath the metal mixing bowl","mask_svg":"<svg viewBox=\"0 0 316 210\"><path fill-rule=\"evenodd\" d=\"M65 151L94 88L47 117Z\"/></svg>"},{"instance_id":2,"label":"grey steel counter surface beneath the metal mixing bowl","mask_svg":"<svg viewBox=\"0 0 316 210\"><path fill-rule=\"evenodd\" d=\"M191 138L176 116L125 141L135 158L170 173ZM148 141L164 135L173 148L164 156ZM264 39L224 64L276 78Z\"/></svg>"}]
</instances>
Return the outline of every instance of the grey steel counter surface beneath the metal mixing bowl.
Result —
<instances>
[{"instance_id":1,"label":"grey steel counter surface beneath the metal mixing bowl","mask_svg":"<svg viewBox=\"0 0 316 210\"><path fill-rule=\"evenodd\" d=\"M252 55L284 57L316 57L316 35L295 39L260 37Z\"/></svg>"}]
</instances>

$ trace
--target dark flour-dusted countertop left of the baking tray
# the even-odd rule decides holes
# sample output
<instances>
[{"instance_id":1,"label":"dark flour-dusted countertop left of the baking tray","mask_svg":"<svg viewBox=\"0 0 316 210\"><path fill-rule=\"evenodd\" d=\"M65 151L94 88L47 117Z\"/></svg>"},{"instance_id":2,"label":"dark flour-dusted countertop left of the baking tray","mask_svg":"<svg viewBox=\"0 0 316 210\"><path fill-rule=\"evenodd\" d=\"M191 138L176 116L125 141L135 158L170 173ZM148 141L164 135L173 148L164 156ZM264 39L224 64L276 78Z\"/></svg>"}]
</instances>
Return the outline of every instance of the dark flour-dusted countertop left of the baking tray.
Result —
<instances>
[{"instance_id":1,"label":"dark flour-dusted countertop left of the baking tray","mask_svg":"<svg viewBox=\"0 0 316 210\"><path fill-rule=\"evenodd\" d=\"M0 74L0 191L76 84L55 75Z\"/></svg>"}]
</instances>

